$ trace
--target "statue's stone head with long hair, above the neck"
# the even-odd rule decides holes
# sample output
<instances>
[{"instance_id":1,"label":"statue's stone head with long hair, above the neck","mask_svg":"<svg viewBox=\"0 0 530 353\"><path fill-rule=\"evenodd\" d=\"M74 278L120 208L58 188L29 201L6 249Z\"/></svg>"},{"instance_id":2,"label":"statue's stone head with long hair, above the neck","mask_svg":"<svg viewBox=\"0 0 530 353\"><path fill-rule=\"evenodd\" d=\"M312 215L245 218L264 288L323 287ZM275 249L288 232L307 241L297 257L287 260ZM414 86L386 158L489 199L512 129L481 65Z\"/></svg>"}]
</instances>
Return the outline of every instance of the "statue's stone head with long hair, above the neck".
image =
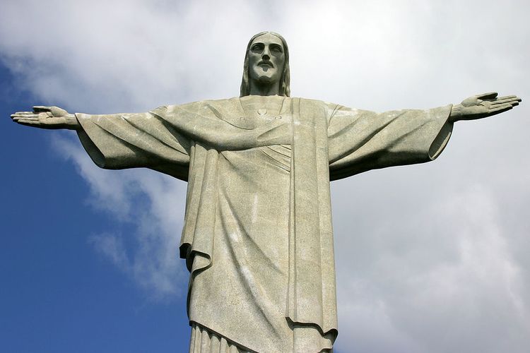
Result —
<instances>
[{"instance_id":1,"label":"statue's stone head with long hair, above the neck","mask_svg":"<svg viewBox=\"0 0 530 353\"><path fill-rule=\"evenodd\" d=\"M281 45L280 45L281 44ZM290 95L289 49L281 35L259 32L245 52L240 97L250 95L252 84L276 84L278 95Z\"/></svg>"}]
</instances>

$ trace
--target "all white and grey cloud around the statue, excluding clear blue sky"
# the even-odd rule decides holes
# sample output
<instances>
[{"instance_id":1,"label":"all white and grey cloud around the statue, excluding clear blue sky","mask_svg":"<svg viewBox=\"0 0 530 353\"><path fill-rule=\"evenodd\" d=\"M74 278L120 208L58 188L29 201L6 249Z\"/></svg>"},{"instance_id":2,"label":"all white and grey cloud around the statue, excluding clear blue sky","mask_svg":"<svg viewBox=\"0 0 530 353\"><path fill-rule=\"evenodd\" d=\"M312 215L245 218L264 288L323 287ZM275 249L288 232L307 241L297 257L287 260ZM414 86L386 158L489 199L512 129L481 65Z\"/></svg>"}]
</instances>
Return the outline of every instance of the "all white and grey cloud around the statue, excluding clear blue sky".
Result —
<instances>
[{"instance_id":1,"label":"all white and grey cloud around the statue, excluding clear blue sky","mask_svg":"<svg viewBox=\"0 0 530 353\"><path fill-rule=\"evenodd\" d=\"M376 111L488 90L530 95L524 1L2 6L1 59L20 88L72 111L145 111L237 95L245 44L261 30L290 44L293 95ZM339 351L525 352L526 105L457 124L433 163L334 183ZM60 149L88 182L93 205L136 229L132 241L112 230L95 235L96 249L153 294L175 293L184 184L147 171L102 171L77 143L57 144L69 147Z\"/></svg>"}]
</instances>

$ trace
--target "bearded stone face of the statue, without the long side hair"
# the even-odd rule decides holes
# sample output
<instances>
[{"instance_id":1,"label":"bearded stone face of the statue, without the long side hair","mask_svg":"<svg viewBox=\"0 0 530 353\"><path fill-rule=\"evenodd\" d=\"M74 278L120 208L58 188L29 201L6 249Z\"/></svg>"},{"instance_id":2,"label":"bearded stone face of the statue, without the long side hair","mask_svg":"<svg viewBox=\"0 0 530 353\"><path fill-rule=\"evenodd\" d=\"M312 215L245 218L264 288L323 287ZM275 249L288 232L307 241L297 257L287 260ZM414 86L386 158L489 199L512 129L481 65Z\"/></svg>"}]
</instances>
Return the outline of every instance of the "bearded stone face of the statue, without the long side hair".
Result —
<instances>
[{"instance_id":1,"label":"bearded stone face of the statue, without the long side hair","mask_svg":"<svg viewBox=\"0 0 530 353\"><path fill-rule=\"evenodd\" d=\"M249 50L249 76L261 84L278 83L283 73L285 54L280 38L270 33L252 41Z\"/></svg>"}]
</instances>

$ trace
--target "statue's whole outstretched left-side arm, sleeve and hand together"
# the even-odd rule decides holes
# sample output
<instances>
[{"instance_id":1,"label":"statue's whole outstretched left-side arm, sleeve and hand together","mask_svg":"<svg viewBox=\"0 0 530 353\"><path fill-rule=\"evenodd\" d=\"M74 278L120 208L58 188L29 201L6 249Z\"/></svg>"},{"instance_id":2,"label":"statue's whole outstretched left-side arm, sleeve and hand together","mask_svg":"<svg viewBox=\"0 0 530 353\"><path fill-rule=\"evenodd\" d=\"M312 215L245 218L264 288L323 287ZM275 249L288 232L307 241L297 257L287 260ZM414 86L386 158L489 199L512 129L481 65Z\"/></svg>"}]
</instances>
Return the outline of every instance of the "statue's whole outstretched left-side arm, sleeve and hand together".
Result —
<instances>
[{"instance_id":1,"label":"statue's whole outstretched left-side arm, sleeve and hand together","mask_svg":"<svg viewBox=\"0 0 530 353\"><path fill-rule=\"evenodd\" d=\"M163 112L159 112L163 114ZM147 167L186 180L189 140L170 131L153 112L69 114L59 107L33 107L11 119L37 128L76 130L90 158L105 169Z\"/></svg>"}]
</instances>

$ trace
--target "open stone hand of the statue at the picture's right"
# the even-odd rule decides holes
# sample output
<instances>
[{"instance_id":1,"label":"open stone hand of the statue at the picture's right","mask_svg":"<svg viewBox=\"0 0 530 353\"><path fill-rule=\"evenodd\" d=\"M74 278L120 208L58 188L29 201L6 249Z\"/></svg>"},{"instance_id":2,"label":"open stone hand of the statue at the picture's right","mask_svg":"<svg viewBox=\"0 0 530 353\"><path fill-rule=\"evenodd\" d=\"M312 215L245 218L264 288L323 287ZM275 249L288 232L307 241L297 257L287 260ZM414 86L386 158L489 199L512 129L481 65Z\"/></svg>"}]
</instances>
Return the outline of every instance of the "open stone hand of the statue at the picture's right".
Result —
<instances>
[{"instance_id":1,"label":"open stone hand of the statue at the picture's right","mask_svg":"<svg viewBox=\"0 0 530 353\"><path fill-rule=\"evenodd\" d=\"M482 119L487 116L500 114L519 105L521 98L515 95L497 97L497 92L484 93L482 95L473 95L461 104L455 104L452 107L449 120L474 120Z\"/></svg>"}]
</instances>

